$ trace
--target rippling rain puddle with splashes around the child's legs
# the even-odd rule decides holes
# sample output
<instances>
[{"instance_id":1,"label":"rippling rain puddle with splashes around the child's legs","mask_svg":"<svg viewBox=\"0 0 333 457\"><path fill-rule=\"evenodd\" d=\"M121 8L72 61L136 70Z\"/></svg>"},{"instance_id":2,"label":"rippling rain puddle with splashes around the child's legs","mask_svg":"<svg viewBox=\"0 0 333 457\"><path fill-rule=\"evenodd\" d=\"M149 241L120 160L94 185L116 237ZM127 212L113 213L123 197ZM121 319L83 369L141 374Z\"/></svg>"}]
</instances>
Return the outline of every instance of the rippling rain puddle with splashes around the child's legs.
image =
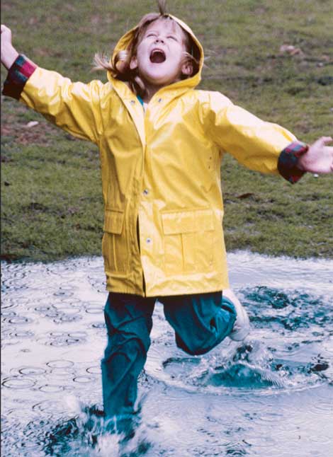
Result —
<instances>
[{"instance_id":1,"label":"rippling rain puddle with splashes around the child's legs","mask_svg":"<svg viewBox=\"0 0 333 457\"><path fill-rule=\"evenodd\" d=\"M240 252L229 264L252 334L188 357L157 304L129 440L101 414L101 258L3 264L3 455L332 455L333 262Z\"/></svg>"}]
</instances>

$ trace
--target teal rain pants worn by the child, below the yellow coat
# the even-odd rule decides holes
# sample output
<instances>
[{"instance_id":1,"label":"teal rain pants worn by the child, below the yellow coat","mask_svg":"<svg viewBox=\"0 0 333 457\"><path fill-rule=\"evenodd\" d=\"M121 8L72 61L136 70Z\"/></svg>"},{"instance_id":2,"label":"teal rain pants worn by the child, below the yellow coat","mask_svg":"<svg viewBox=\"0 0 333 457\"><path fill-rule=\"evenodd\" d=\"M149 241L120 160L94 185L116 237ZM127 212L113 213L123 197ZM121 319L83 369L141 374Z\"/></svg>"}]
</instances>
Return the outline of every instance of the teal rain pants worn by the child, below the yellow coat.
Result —
<instances>
[{"instance_id":1,"label":"teal rain pants worn by the child, below the yellow coat","mask_svg":"<svg viewBox=\"0 0 333 457\"><path fill-rule=\"evenodd\" d=\"M106 417L134 412L137 377L145 365L150 345L156 297L108 295L104 315L108 345L101 361L103 404ZM164 316L187 354L205 354L230 334L236 312L221 292L159 297Z\"/></svg>"}]
</instances>

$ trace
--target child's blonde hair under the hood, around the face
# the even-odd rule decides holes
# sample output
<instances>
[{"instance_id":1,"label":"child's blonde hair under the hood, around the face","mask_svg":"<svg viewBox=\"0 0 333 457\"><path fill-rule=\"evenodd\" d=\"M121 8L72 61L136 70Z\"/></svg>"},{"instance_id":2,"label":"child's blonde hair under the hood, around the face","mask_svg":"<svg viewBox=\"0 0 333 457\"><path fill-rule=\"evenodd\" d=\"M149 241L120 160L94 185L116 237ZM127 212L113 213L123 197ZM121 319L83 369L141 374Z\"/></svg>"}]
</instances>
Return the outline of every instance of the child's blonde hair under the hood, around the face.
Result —
<instances>
[{"instance_id":1,"label":"child's blonde hair under the hood, around the face","mask_svg":"<svg viewBox=\"0 0 333 457\"><path fill-rule=\"evenodd\" d=\"M157 21L159 19L174 21L171 16L166 13L165 9L165 0L158 0L159 13L148 13L143 16L137 25L137 30L135 31L134 38L126 50L120 50L115 56L111 59L111 62L103 54L95 54L94 56L94 70L108 70L111 72L113 78L120 79L120 81L126 81L129 83L131 90L138 96L145 96L147 93L147 88L145 83L140 78L137 69L130 69L130 61L137 52L137 46L140 44L145 31L147 30L148 25ZM174 21L176 23L176 21ZM179 24L177 24L179 25ZM193 74L196 74L199 69L199 59L200 52L198 47L193 42L191 35L181 27L182 32L184 33L184 41L186 45L186 52L184 52L184 62L183 64L190 63L192 65L193 71L190 75L183 74L182 79L190 78Z\"/></svg>"}]
</instances>

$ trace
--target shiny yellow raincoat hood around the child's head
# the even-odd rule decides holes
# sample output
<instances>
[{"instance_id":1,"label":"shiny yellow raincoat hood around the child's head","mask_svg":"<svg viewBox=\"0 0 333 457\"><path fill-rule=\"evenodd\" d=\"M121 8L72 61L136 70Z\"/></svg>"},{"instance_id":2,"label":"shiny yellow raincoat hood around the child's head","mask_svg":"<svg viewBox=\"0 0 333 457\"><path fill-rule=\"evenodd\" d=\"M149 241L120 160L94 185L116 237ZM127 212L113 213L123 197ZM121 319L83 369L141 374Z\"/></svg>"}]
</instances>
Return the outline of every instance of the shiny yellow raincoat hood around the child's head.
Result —
<instances>
[{"instance_id":1,"label":"shiny yellow raincoat hood around the child's head","mask_svg":"<svg viewBox=\"0 0 333 457\"><path fill-rule=\"evenodd\" d=\"M198 83L201 81L201 71L203 68L203 47L201 45L201 42L198 40L196 35L194 35L193 31L191 28L188 27L186 23L181 21L181 19L176 18L175 16L172 16L171 14L167 14L161 17L166 17L169 16L169 18L173 19L177 24L181 26L192 38L193 40L193 45L194 49L192 50L191 54L193 57L196 58L198 61L198 71L196 74L193 74L190 78L183 79L181 81L178 81L176 83L171 84L172 88L195 88L198 86ZM125 51L128 50L130 45L132 44L133 40L135 39L135 34L137 33L138 25L136 25L134 28L130 29L123 37L120 38L118 41L117 45L115 46L115 49L113 50L113 55L111 57L111 61L115 61L115 56L118 54L120 51ZM108 71L108 81L114 82L114 78L111 74L111 71Z\"/></svg>"}]
</instances>

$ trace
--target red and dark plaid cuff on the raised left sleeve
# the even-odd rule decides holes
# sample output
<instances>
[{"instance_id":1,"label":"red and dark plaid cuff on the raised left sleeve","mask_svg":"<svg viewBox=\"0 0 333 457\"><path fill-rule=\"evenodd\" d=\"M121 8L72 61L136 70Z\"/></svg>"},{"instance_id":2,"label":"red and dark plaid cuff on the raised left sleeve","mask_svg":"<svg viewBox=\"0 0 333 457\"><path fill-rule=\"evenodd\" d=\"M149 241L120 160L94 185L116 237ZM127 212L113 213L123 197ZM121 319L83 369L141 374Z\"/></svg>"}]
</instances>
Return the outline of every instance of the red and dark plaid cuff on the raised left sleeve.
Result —
<instances>
[{"instance_id":1,"label":"red and dark plaid cuff on the raised left sleeve","mask_svg":"<svg viewBox=\"0 0 333 457\"><path fill-rule=\"evenodd\" d=\"M20 54L8 71L2 93L4 96L19 100L26 82L33 74L37 66L30 62L26 56Z\"/></svg>"}]
</instances>

